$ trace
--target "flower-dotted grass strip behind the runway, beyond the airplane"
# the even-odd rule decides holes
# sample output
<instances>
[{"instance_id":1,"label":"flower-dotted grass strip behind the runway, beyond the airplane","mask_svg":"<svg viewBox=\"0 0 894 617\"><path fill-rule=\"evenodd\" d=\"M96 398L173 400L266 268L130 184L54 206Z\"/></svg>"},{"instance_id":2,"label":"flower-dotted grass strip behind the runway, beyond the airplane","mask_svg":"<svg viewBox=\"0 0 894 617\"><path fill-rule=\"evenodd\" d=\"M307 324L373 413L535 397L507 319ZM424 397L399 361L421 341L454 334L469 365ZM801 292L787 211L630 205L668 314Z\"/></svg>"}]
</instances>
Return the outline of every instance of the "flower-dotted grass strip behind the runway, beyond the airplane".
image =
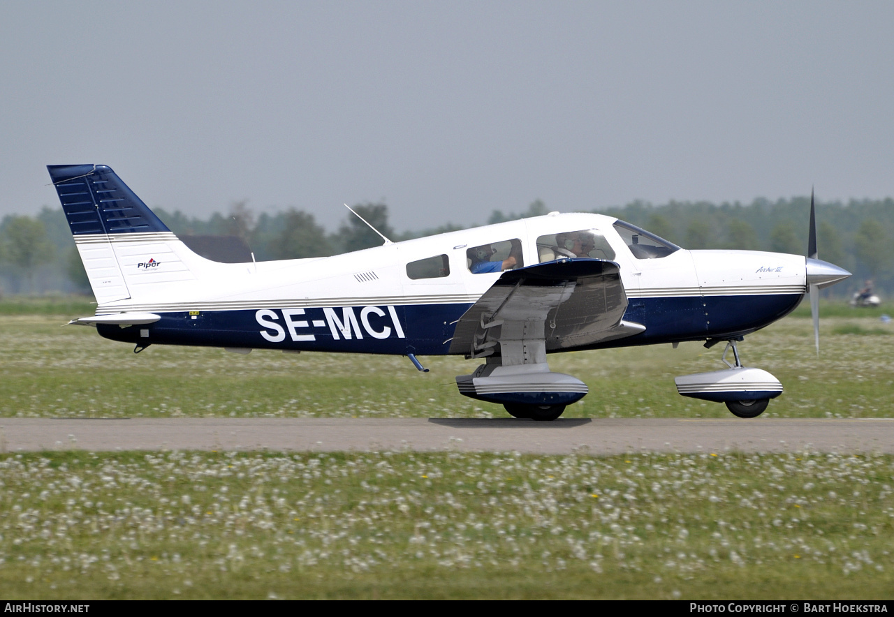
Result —
<instances>
[{"instance_id":1,"label":"flower-dotted grass strip behind the runway, beyond the airplane","mask_svg":"<svg viewBox=\"0 0 894 617\"><path fill-rule=\"evenodd\" d=\"M173 346L133 354L92 328L61 327L78 314L0 310L0 417L505 415L460 396L454 377L477 366L460 357L422 358L431 372L420 373L401 356ZM767 416L890 417L894 324L848 315L822 320L819 358L808 318L789 317L740 344L747 366L772 372L785 388ZM722 369L721 353L684 343L553 354L550 363L590 388L565 417L729 417L722 404L678 396L673 383Z\"/></svg>"}]
</instances>

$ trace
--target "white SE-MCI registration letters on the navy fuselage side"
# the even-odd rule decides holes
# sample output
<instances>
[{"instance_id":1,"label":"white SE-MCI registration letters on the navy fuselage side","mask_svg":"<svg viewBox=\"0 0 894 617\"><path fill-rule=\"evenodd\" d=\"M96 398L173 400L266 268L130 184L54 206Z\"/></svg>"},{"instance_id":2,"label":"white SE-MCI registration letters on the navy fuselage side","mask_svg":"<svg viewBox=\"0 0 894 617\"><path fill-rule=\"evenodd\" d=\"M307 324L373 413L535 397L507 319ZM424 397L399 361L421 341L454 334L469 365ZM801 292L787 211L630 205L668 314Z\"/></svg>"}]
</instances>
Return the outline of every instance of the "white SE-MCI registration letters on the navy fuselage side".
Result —
<instances>
[{"instance_id":1,"label":"white SE-MCI registration letters on the navy fuselage side","mask_svg":"<svg viewBox=\"0 0 894 617\"><path fill-rule=\"evenodd\" d=\"M389 338L392 336L392 332L397 334L398 338L407 338L394 307L388 306L387 308L388 313L385 313L378 306L364 306L360 309L359 320L352 306L343 307L341 315L336 313L334 308L324 308L325 321L313 320L312 323L315 328L327 326L334 340L363 338L364 331L372 338ZM313 334L298 333L298 329L310 327L308 321L294 319L296 316L304 315L304 309L283 309L282 313L285 328L278 322L280 316L275 311L261 309L255 313L257 324L264 328L260 330L262 337L271 343L282 343L285 340L286 330L288 330L293 341L316 340L316 336ZM384 320L386 316L390 318L391 325L387 325L388 321ZM360 329L361 324L363 329Z\"/></svg>"}]
</instances>

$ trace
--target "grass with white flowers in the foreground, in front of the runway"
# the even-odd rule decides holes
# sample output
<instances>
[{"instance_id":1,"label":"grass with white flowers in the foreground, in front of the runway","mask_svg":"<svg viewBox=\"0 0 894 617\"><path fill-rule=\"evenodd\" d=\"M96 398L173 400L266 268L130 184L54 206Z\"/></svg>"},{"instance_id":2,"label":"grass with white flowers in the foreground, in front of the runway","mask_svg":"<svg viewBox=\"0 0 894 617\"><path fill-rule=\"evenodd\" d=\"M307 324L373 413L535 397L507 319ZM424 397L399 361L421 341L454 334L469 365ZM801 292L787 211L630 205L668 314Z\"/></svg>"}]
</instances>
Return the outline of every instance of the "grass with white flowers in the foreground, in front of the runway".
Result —
<instances>
[{"instance_id":1,"label":"grass with white flowers in the foreground, in front of the runway","mask_svg":"<svg viewBox=\"0 0 894 617\"><path fill-rule=\"evenodd\" d=\"M0 596L894 597L894 459L0 456Z\"/></svg>"}]
</instances>

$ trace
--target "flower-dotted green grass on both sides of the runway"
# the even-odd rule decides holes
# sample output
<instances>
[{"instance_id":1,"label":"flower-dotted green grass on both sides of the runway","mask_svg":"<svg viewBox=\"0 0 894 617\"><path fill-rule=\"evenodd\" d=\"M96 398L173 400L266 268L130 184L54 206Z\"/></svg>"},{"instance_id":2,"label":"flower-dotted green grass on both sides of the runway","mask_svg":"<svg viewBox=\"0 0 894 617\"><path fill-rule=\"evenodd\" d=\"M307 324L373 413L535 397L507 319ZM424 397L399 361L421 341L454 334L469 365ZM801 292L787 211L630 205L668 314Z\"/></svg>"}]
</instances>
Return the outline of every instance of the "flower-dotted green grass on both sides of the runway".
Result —
<instances>
[{"instance_id":1,"label":"flower-dotted green grass on both sides of the runway","mask_svg":"<svg viewBox=\"0 0 894 617\"><path fill-rule=\"evenodd\" d=\"M390 356L135 355L61 327L83 307L30 302L0 304L0 417L504 413L457 392L474 361L423 358L423 374ZM768 415L891 417L892 333L833 314L817 358L796 315L740 351L786 388ZM551 366L590 387L569 417L726 418L673 385L722 368L721 351ZM0 596L891 598L892 486L894 457L873 453L0 454Z\"/></svg>"}]
</instances>

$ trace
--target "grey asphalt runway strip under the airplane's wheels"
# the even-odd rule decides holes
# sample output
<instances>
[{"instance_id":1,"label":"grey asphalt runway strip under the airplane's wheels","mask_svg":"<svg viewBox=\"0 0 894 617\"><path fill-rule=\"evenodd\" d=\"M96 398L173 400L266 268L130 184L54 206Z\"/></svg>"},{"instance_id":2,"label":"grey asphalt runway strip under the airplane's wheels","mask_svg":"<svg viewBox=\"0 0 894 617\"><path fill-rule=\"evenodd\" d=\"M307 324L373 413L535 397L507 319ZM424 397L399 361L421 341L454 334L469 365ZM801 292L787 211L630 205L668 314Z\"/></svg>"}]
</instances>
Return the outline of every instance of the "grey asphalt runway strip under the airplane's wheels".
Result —
<instances>
[{"instance_id":1,"label":"grey asphalt runway strip under the airplane's wheels","mask_svg":"<svg viewBox=\"0 0 894 617\"><path fill-rule=\"evenodd\" d=\"M894 419L0 419L0 452L70 449L892 454Z\"/></svg>"}]
</instances>

